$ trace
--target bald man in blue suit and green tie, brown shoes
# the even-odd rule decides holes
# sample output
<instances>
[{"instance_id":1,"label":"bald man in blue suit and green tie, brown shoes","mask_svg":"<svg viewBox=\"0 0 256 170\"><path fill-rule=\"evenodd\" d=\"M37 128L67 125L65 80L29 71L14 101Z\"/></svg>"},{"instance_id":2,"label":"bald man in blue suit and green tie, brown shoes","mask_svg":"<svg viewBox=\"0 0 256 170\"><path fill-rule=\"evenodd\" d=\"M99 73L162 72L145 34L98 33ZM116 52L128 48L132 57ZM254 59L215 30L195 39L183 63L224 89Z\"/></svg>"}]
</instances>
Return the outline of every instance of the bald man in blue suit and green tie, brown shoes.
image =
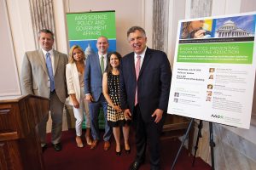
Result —
<instances>
[{"instance_id":1,"label":"bald man in blue suit and green tie, brown shoes","mask_svg":"<svg viewBox=\"0 0 256 170\"><path fill-rule=\"evenodd\" d=\"M100 139L98 116L101 105L105 118L105 133L103 136L104 150L108 150L110 147L109 139L111 137L112 130L108 126L107 122L108 102L102 94L102 74L106 70L108 64L108 47L108 38L103 36L98 37L96 43L98 53L91 54L86 59L84 71L84 94L85 99L89 102L90 128L93 138L90 149L95 149Z\"/></svg>"}]
</instances>

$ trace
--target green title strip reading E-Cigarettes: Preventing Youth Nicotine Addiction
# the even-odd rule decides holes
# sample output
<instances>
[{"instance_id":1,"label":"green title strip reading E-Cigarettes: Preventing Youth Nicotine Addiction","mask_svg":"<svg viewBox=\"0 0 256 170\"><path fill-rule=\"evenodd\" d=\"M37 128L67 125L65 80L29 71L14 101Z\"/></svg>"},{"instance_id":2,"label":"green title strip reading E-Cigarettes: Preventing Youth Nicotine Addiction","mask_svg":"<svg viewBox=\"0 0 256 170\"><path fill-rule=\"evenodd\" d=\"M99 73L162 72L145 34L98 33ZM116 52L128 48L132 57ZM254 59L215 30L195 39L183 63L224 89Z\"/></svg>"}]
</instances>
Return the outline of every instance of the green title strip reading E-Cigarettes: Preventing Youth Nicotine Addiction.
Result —
<instances>
[{"instance_id":1,"label":"green title strip reading E-Cigarettes: Preventing Youth Nicotine Addiction","mask_svg":"<svg viewBox=\"0 0 256 170\"><path fill-rule=\"evenodd\" d=\"M179 44L177 62L252 64L253 42Z\"/></svg>"}]
</instances>

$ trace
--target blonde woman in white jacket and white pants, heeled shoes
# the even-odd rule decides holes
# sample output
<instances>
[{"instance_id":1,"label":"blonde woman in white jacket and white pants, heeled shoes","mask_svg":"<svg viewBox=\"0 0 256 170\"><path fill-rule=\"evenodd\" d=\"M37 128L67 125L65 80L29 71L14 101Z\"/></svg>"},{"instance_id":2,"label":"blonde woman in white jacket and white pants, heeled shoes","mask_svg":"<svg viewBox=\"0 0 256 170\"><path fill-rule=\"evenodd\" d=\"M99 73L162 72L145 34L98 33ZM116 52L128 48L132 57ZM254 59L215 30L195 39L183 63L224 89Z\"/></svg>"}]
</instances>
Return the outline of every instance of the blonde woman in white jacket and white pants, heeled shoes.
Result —
<instances>
[{"instance_id":1,"label":"blonde woman in white jacket and white pants, heeled shoes","mask_svg":"<svg viewBox=\"0 0 256 170\"><path fill-rule=\"evenodd\" d=\"M68 64L66 65L67 92L70 104L73 105L73 114L76 118L76 142L79 148L84 147L81 139L84 113L86 119L85 139L87 144L91 144L90 115L88 104L84 100L84 59L84 50L78 45L74 45L69 51Z\"/></svg>"}]
</instances>

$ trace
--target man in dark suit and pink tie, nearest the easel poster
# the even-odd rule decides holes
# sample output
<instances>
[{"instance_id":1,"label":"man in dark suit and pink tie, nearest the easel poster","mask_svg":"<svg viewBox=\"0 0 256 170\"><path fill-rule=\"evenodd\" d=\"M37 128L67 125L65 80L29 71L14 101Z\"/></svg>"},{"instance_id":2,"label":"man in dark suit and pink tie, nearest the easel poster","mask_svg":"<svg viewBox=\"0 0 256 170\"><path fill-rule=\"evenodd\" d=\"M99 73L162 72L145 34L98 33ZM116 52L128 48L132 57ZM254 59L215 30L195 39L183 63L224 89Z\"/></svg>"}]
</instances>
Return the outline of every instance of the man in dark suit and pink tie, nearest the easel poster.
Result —
<instances>
[{"instance_id":1,"label":"man in dark suit and pink tie, nearest the easel poster","mask_svg":"<svg viewBox=\"0 0 256 170\"><path fill-rule=\"evenodd\" d=\"M127 119L136 124L137 156L129 169L138 169L145 160L147 141L151 169L160 169L160 133L164 124L172 71L164 52L146 46L142 27L127 31L133 52L120 65L120 99Z\"/></svg>"}]
</instances>

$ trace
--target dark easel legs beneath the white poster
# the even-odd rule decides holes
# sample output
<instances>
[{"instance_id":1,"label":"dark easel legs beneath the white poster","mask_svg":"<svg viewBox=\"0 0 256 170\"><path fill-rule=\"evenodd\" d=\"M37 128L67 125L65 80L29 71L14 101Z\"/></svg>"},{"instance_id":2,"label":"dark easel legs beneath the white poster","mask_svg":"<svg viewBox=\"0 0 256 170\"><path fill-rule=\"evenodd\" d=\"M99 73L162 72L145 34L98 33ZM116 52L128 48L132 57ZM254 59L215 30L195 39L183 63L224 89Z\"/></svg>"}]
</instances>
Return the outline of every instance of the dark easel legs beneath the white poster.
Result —
<instances>
[{"instance_id":1,"label":"dark easel legs beneath the white poster","mask_svg":"<svg viewBox=\"0 0 256 170\"><path fill-rule=\"evenodd\" d=\"M188 134L189 134L189 131L190 131L190 128L192 127L192 124L194 122L194 118L191 119L191 121L189 122L189 127L183 137L183 141L182 141L182 144L180 144L180 147L177 151L177 155L172 163L172 168L171 170L174 169L174 166L176 164L176 161L177 161L177 157L179 156L180 154L180 151L182 150L183 148L183 144L185 143L186 139L188 139ZM195 156L196 156L196 151L198 149L198 142L199 142L199 138L201 138L201 128L202 128L202 121L200 120L200 123L198 125L198 133L197 133L197 139L196 139L196 144L195 144L195 155L194 155L194 159L193 159L193 163L192 163L192 167L194 167L194 164L195 164ZM213 141L213 131L212 131L212 122L209 122L209 129L210 129L210 147L211 147L211 158L212 158L212 170L215 170L215 167L214 167L214 146L215 146L215 143Z\"/></svg>"}]
</instances>

